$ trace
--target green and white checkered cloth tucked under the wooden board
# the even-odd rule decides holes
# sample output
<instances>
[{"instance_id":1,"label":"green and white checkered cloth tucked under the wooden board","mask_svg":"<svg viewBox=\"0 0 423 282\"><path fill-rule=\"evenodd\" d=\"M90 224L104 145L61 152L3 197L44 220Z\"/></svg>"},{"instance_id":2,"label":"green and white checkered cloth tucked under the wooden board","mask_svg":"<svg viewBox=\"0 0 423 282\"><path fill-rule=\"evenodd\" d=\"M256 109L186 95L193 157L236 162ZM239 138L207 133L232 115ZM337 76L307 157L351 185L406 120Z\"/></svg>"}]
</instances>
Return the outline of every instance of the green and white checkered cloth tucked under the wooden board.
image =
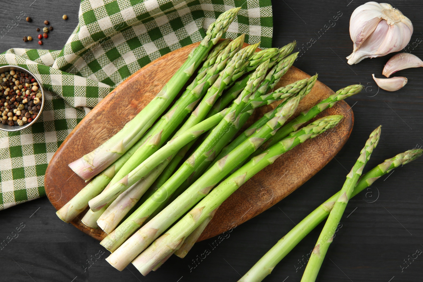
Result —
<instances>
[{"instance_id":1,"label":"green and white checkered cloth tucked under the wooden board","mask_svg":"<svg viewBox=\"0 0 423 282\"><path fill-rule=\"evenodd\" d=\"M0 132L0 209L44 196L47 164L66 136L115 86L158 57L201 41L211 22L241 6L223 38L272 45L270 0L83 0L62 50L9 49L0 66L28 69L44 88L33 126ZM47 191L48 193L48 191Z\"/></svg>"}]
</instances>

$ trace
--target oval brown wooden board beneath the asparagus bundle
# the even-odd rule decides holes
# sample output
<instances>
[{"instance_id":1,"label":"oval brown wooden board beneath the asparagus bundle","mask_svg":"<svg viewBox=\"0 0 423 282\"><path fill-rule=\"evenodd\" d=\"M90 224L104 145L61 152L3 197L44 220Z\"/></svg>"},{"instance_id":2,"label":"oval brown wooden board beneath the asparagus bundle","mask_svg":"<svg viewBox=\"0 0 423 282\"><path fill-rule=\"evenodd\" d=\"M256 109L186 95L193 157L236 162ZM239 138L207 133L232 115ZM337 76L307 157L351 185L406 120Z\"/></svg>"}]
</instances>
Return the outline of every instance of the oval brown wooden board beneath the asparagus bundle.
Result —
<instances>
[{"instance_id":1,"label":"oval brown wooden board beneath the asparagus bundle","mask_svg":"<svg viewBox=\"0 0 423 282\"><path fill-rule=\"evenodd\" d=\"M196 46L198 43L182 47L141 68L100 101L71 131L52 157L44 178L47 197L56 210L86 185L68 164L97 148L137 115L168 82ZM244 44L245 46L247 44ZM310 76L305 72L291 67L277 87L308 77ZM330 88L317 81L310 94L301 101L295 115L331 94L333 91ZM275 106L272 104L259 108L248 123L260 118ZM228 230L231 225L239 225L265 211L330 162L348 139L354 116L344 101L321 113L321 116L325 115L343 115L344 120L330 134L297 146L245 183L220 206L200 240L218 235ZM106 234L101 229L87 227L80 221L86 211L71 223L91 237L102 240Z\"/></svg>"}]
</instances>

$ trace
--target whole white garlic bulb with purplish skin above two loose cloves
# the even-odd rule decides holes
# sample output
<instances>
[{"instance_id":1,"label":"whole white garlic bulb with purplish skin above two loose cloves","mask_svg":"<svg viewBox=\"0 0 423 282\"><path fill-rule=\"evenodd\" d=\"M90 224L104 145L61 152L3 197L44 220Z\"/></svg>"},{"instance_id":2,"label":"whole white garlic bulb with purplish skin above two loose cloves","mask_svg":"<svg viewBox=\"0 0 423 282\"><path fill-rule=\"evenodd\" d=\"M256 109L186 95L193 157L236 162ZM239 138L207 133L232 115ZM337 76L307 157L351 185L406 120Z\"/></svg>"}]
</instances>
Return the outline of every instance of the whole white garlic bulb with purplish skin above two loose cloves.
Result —
<instances>
[{"instance_id":1,"label":"whole white garlic bulb with purplish skin above two loose cloves","mask_svg":"<svg viewBox=\"0 0 423 282\"><path fill-rule=\"evenodd\" d=\"M357 7L349 20L354 42L350 65L368 57L380 57L407 46L413 33L411 21L387 3L368 2Z\"/></svg>"}]
</instances>

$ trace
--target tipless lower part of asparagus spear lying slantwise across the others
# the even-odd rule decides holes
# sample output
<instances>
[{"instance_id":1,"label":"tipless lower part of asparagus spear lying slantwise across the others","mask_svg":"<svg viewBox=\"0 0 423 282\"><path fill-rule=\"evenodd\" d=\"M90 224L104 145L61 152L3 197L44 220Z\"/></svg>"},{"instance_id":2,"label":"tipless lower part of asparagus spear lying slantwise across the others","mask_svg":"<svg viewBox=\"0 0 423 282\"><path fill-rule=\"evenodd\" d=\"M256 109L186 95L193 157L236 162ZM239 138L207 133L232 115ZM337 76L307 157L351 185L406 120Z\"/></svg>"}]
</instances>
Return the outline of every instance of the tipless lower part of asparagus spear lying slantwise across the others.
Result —
<instances>
[{"instance_id":1,"label":"tipless lower part of asparagus spear lying slantwise across the others","mask_svg":"<svg viewBox=\"0 0 423 282\"><path fill-rule=\"evenodd\" d=\"M227 115L226 110L203 120L201 123L196 124L189 130L185 131L181 135L170 140L166 145L157 150L151 156L149 156L144 162L138 165L134 170L129 172L124 178L115 184L111 185L110 188L104 189L102 194L94 197L88 202L88 205L93 211L98 211L107 203L115 200L118 195L134 185L135 182L147 175L148 172L157 167L161 162L167 159L169 156L177 153L188 142L195 140L198 136L208 131L209 129L217 126L220 120Z\"/></svg>"}]
</instances>

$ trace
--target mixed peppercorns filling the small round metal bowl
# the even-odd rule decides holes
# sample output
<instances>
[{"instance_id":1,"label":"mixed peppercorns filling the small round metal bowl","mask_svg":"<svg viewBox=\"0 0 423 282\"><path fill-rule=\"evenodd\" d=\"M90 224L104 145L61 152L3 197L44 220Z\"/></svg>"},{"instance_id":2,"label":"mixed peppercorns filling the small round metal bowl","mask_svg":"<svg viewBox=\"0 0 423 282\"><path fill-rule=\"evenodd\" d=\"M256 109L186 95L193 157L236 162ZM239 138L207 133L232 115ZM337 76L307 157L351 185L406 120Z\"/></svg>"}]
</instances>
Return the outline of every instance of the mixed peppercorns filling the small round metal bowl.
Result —
<instances>
[{"instance_id":1,"label":"mixed peppercorns filling the small round metal bowl","mask_svg":"<svg viewBox=\"0 0 423 282\"><path fill-rule=\"evenodd\" d=\"M36 80L28 73L14 70L6 71L0 77L0 122L22 126L33 121L42 104L41 89Z\"/></svg>"}]
</instances>

